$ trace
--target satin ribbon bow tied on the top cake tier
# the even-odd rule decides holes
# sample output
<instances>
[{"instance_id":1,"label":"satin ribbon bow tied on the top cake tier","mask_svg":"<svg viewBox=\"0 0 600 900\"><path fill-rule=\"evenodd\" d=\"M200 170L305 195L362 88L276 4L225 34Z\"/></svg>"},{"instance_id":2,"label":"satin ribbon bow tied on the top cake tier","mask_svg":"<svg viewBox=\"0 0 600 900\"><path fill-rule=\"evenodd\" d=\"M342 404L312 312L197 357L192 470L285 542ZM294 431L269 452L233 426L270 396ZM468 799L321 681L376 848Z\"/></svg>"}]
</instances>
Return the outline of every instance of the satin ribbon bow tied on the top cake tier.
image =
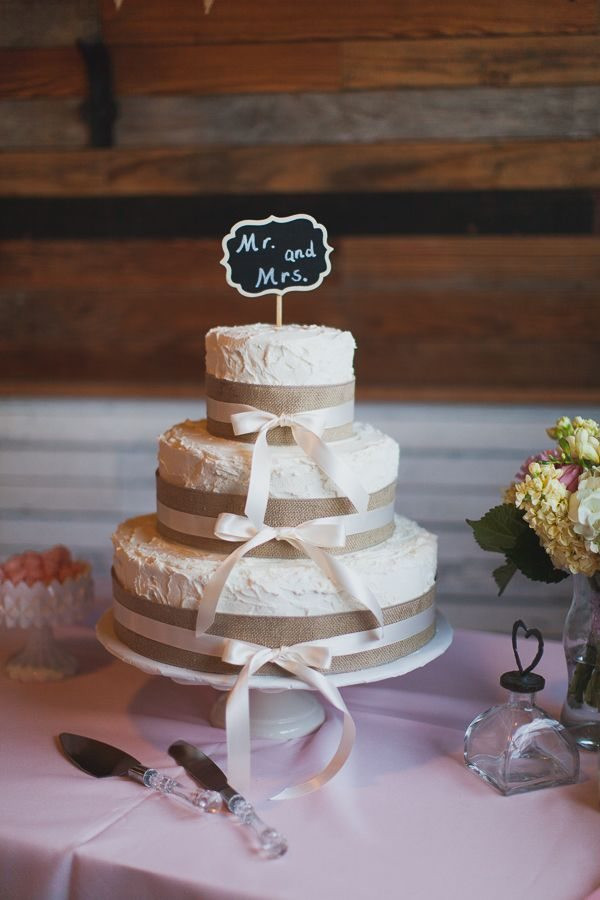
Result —
<instances>
[{"instance_id":1,"label":"satin ribbon bow tied on the top cake tier","mask_svg":"<svg viewBox=\"0 0 600 900\"><path fill-rule=\"evenodd\" d=\"M252 453L252 466L248 484L245 513L256 524L264 522L269 501L271 480L271 449L267 435L272 428L288 426L294 440L323 472L343 491L358 512L366 512L369 494L354 473L331 448L322 440L327 427L327 411L313 410L294 415L276 416L255 406L240 404L240 412L232 413L233 433L254 434L258 432Z\"/></svg>"}]
</instances>

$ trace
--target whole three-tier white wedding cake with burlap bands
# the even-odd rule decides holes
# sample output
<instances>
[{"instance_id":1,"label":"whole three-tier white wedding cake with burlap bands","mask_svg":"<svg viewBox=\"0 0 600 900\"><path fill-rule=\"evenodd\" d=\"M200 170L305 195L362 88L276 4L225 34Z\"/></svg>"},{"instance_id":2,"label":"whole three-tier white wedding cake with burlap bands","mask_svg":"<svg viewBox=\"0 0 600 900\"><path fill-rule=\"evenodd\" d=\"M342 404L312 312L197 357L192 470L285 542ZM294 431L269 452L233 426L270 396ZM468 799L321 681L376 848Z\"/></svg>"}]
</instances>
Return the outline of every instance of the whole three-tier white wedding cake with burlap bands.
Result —
<instances>
[{"instance_id":1,"label":"whole three-tier white wedding cake with burlap bands","mask_svg":"<svg viewBox=\"0 0 600 900\"><path fill-rule=\"evenodd\" d=\"M157 513L113 537L122 643L207 673L239 671L232 641L317 647L349 672L432 639L436 539L394 513L396 442L354 421L354 349L316 325L209 331L206 420L160 437Z\"/></svg>"}]
</instances>

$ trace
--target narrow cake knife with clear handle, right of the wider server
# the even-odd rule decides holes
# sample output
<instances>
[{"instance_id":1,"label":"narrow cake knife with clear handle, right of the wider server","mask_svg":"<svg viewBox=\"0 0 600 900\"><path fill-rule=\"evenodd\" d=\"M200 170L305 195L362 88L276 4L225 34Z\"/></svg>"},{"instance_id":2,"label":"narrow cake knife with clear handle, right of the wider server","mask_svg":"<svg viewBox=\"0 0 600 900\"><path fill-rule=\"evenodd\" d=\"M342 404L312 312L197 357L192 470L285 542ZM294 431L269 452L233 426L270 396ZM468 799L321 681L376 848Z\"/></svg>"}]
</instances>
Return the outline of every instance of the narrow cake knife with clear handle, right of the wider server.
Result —
<instances>
[{"instance_id":1,"label":"narrow cake knife with clear handle, right of the wider server","mask_svg":"<svg viewBox=\"0 0 600 900\"><path fill-rule=\"evenodd\" d=\"M210 756L188 744L187 741L175 741L169 747L169 753L180 766L183 766L190 778L202 787L218 791L227 809L236 816L242 825L251 828L263 854L269 859L283 856L287 851L287 841L283 835L260 819L254 807L241 794L227 783L225 773L212 761Z\"/></svg>"}]
</instances>

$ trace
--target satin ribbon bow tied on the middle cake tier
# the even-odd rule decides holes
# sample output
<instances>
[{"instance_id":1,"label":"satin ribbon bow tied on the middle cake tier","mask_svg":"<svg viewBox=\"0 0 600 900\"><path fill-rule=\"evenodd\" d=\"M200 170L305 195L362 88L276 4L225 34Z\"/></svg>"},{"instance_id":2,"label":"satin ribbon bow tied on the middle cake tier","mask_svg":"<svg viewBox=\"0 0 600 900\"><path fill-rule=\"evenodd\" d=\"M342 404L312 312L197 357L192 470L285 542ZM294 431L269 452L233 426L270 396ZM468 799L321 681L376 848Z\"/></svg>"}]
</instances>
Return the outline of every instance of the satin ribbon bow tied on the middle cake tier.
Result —
<instances>
[{"instance_id":1,"label":"satin ribbon bow tied on the middle cake tier","mask_svg":"<svg viewBox=\"0 0 600 900\"><path fill-rule=\"evenodd\" d=\"M377 619L379 625L377 636L381 637L383 613L375 595L355 572L350 571L323 550L323 547L344 546L346 532L341 521L326 522L313 519L295 527L272 528L270 525L263 525L262 528L257 528L244 516L221 513L215 525L215 537L222 541L244 541L244 543L229 554L208 580L196 618L197 636L203 634L214 622L219 597L236 563L255 547L275 540L287 541L309 556L336 587L369 609Z\"/></svg>"}]
</instances>

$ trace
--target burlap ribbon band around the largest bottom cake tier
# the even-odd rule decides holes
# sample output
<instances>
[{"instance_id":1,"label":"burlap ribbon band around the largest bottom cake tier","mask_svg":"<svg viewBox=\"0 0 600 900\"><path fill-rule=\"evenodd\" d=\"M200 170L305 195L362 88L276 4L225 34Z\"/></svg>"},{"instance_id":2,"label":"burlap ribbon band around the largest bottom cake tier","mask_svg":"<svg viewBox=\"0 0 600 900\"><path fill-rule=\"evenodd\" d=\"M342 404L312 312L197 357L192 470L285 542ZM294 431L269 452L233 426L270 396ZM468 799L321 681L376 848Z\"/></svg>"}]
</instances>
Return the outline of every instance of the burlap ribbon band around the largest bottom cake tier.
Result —
<instances>
[{"instance_id":1,"label":"burlap ribbon band around the largest bottom cake tier","mask_svg":"<svg viewBox=\"0 0 600 900\"><path fill-rule=\"evenodd\" d=\"M140 634L125 625L121 619L126 617L119 615L119 607L122 607L144 619L165 625L174 625L193 633L197 610L177 609L154 603L123 588L114 573L113 594L115 632L119 640L136 653L157 662L199 672L236 674L239 671L238 667L224 663L218 657L169 646ZM384 630L386 626L405 622L431 610L434 599L435 588L432 587L414 600L386 607L383 610ZM372 628L372 624L372 615L368 610L318 616L241 616L217 613L207 634L275 648L282 644L293 646L303 642L356 634L368 631ZM354 672L392 662L423 647L433 638L434 633L435 623L430 622L425 628L403 640L383 646L369 647L359 653L334 656L328 672ZM260 674L281 674L281 670L276 665L267 664L260 670Z\"/></svg>"}]
</instances>

